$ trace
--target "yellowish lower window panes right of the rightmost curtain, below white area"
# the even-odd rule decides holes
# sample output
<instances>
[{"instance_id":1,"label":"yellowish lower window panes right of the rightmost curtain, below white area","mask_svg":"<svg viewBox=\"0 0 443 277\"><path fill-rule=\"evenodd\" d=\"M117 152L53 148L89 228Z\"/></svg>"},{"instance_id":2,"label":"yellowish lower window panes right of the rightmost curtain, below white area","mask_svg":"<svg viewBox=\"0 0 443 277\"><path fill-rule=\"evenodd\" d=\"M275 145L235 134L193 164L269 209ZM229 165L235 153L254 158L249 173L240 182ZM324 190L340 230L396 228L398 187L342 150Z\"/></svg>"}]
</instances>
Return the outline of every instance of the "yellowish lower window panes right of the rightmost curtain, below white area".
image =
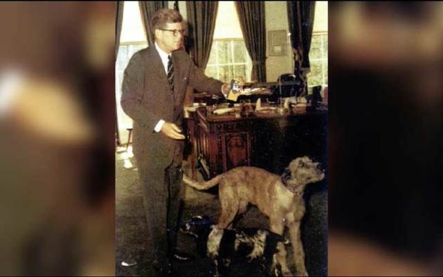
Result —
<instances>
[{"instance_id":1,"label":"yellowish lower window panes right of the rightmost curtain, below white area","mask_svg":"<svg viewBox=\"0 0 443 277\"><path fill-rule=\"evenodd\" d=\"M307 74L309 87L327 87L327 33L312 34L309 51L311 72Z\"/></svg>"}]
</instances>

